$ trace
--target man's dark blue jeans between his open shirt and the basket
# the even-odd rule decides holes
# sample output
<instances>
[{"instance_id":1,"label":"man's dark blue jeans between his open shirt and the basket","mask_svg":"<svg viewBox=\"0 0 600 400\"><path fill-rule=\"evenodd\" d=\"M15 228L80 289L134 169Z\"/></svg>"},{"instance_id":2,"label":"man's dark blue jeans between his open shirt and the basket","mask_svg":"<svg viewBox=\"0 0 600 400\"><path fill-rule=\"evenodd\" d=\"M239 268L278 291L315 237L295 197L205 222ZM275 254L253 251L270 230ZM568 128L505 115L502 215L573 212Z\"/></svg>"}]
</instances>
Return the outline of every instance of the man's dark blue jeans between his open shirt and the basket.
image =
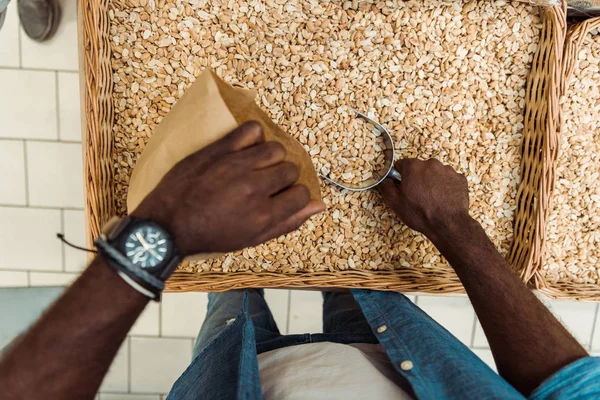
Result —
<instances>
[{"instance_id":1,"label":"man's dark blue jeans between his open shirt and the basket","mask_svg":"<svg viewBox=\"0 0 600 400\"><path fill-rule=\"evenodd\" d=\"M239 315L243 296L243 290L209 293L208 312L193 358ZM254 325L257 354L305 343L378 343L351 292L323 292L323 333L282 335L262 289L248 289L248 313Z\"/></svg>"}]
</instances>

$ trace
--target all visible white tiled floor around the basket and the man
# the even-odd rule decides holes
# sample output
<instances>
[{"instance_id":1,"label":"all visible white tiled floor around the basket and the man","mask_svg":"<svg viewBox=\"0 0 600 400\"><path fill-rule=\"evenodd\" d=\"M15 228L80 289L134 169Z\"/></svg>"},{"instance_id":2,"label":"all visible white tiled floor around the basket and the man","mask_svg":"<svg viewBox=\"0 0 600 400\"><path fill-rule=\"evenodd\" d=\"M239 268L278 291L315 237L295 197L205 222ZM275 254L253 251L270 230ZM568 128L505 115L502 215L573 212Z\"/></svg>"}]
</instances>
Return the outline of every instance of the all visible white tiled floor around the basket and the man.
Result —
<instances>
[{"instance_id":1,"label":"all visible white tiled floor around the basket and the man","mask_svg":"<svg viewBox=\"0 0 600 400\"><path fill-rule=\"evenodd\" d=\"M0 287L66 285L86 265L84 252L55 238L62 231L73 243L85 243L76 2L62 4L61 28L49 42L26 37L14 1L0 29ZM282 333L321 332L319 292L266 290L265 295ZM466 298L410 298L460 340L472 341L476 354L493 366ZM552 304L600 355L597 307ZM119 350L99 400L164 399L190 361L205 312L204 294L166 294L162 304L149 304Z\"/></svg>"}]
</instances>

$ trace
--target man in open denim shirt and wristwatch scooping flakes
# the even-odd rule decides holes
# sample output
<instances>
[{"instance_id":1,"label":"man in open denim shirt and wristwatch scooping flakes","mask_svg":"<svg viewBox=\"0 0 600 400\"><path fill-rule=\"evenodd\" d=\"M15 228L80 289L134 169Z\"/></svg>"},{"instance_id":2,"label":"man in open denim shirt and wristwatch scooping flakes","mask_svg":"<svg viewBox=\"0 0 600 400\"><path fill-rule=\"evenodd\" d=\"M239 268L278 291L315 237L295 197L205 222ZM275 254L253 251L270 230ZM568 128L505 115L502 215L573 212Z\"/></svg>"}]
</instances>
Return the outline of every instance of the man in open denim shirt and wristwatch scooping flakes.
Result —
<instances>
[{"instance_id":1,"label":"man in open denim shirt and wristwatch scooping flakes","mask_svg":"<svg viewBox=\"0 0 600 400\"><path fill-rule=\"evenodd\" d=\"M128 330L160 294L174 264L168 254L254 246L323 211L294 185L298 169L284 157L282 146L264 142L259 124L246 123L175 166L132 214L133 225L120 223L97 241L94 262L6 351L2 398L93 398ZM386 181L383 197L456 270L501 377L399 293L325 293L324 333L282 336L261 291L233 291L210 295L192 364L169 398L600 396L600 360L588 357L469 216L466 179L436 160L396 166L402 184Z\"/></svg>"}]
</instances>

